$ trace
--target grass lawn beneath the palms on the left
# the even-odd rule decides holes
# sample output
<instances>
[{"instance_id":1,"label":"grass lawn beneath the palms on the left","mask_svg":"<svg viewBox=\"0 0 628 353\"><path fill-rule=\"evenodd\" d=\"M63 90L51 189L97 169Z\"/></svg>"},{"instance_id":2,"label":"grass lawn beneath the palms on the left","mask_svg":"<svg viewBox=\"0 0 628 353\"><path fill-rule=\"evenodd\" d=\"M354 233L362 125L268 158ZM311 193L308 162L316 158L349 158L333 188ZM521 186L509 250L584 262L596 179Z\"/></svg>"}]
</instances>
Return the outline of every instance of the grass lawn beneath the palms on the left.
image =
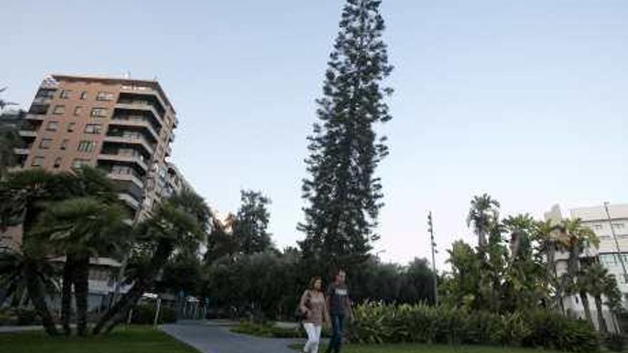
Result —
<instances>
[{"instance_id":1,"label":"grass lawn beneath the palms on the left","mask_svg":"<svg viewBox=\"0 0 628 353\"><path fill-rule=\"evenodd\" d=\"M198 353L152 327L116 329L105 337L48 337L44 332L0 334L6 353Z\"/></svg>"}]
</instances>

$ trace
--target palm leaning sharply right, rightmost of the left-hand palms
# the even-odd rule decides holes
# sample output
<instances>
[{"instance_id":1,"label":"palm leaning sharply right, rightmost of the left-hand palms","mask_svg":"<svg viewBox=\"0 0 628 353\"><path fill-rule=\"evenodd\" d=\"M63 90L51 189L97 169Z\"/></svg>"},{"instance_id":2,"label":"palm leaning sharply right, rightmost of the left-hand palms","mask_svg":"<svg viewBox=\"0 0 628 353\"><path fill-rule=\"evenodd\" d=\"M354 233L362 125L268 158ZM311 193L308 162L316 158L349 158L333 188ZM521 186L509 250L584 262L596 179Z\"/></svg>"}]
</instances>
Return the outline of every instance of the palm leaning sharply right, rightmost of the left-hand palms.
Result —
<instances>
[{"instance_id":1,"label":"palm leaning sharply right, rightmost of the left-hand palms","mask_svg":"<svg viewBox=\"0 0 628 353\"><path fill-rule=\"evenodd\" d=\"M159 205L151 218L141 222L136 227L136 236L153 246L152 257L133 278L133 287L101 317L93 334L111 332L151 288L173 252L181 245L202 240L210 220L211 211L203 198L184 190Z\"/></svg>"}]
</instances>

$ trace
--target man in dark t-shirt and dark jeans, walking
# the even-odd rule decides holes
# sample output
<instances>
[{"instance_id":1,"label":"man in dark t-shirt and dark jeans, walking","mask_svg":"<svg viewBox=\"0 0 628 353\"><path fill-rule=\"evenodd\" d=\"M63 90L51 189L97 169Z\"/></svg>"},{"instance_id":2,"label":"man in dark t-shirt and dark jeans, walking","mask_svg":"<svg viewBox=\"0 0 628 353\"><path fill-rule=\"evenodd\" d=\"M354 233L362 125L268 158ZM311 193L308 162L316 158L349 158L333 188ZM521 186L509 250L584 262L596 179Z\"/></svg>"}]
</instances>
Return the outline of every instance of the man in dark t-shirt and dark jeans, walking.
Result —
<instances>
[{"instance_id":1,"label":"man in dark t-shirt and dark jeans, walking","mask_svg":"<svg viewBox=\"0 0 628 353\"><path fill-rule=\"evenodd\" d=\"M343 324L345 317L351 319L353 312L351 311L351 300L349 299L349 290L345 285L347 274L344 270L338 270L333 282L327 290L327 307L329 308L329 316L333 334L327 348L327 353L340 353L340 347L343 344Z\"/></svg>"}]
</instances>

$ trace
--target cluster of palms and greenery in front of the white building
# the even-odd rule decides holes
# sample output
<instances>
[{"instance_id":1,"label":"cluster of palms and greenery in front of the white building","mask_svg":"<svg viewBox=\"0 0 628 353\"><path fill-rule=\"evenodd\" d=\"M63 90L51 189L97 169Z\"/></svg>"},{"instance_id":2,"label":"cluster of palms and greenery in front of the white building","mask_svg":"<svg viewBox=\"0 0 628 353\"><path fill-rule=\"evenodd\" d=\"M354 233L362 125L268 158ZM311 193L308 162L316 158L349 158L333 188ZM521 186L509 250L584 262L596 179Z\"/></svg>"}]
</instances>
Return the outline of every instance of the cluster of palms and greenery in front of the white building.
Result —
<instances>
[{"instance_id":1,"label":"cluster of palms and greenery in front of the white building","mask_svg":"<svg viewBox=\"0 0 628 353\"><path fill-rule=\"evenodd\" d=\"M477 236L477 247L462 241L452 246L452 275L442 287L445 300L492 312L546 307L567 314L564 297L579 295L587 320L593 322L590 296L598 327L606 332L604 299L618 314L621 293L597 257L582 256L597 247L594 232L581 220L537 221L528 214L501 220L499 208L500 203L486 194L472 200L467 223ZM567 262L564 270L557 270L557 258Z\"/></svg>"}]
</instances>

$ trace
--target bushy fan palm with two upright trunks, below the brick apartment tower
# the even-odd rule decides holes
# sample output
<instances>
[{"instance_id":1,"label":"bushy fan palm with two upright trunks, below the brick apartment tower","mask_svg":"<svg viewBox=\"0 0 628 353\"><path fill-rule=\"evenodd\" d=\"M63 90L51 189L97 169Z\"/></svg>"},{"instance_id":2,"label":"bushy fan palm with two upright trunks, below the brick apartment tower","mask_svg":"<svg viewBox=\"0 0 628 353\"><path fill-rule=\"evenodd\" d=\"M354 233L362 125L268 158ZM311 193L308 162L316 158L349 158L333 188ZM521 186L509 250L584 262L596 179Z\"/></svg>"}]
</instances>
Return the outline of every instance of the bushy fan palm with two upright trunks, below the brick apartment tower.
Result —
<instances>
[{"instance_id":1,"label":"bushy fan palm with two upright trunks, below the brick apartment tower","mask_svg":"<svg viewBox=\"0 0 628 353\"><path fill-rule=\"evenodd\" d=\"M66 256L62 314L66 334L71 284L76 297L77 332L86 334L89 260L98 254L112 254L128 242L129 215L118 203L107 204L93 197L72 198L52 203L41 215L36 234L49 240L54 251Z\"/></svg>"}]
</instances>

